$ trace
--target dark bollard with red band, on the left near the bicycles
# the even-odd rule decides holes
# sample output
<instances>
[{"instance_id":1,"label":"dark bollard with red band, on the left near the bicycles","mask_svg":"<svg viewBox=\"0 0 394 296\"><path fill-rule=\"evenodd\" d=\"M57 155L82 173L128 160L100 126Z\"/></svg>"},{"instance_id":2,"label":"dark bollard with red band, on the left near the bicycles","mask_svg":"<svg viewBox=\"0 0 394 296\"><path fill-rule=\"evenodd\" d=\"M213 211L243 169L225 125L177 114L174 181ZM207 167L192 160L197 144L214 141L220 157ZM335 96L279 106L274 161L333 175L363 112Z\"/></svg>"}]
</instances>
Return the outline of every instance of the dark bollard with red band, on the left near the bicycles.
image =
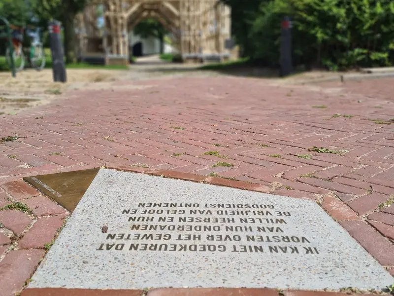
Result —
<instances>
[{"instance_id":1,"label":"dark bollard with red band, on the left near the bicycles","mask_svg":"<svg viewBox=\"0 0 394 296\"><path fill-rule=\"evenodd\" d=\"M60 36L60 22L55 20L49 21L48 29L52 55L53 81L66 82L67 76L62 38Z\"/></svg>"}]
</instances>

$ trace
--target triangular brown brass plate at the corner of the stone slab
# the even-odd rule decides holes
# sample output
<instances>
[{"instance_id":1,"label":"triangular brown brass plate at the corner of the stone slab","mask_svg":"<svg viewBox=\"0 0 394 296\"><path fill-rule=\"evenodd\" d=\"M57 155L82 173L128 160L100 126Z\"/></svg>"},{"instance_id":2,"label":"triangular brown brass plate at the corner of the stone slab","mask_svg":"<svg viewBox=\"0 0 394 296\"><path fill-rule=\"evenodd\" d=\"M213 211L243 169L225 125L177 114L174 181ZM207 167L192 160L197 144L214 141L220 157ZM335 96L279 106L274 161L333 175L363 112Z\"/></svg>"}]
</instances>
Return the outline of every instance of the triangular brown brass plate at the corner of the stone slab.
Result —
<instances>
[{"instance_id":1,"label":"triangular brown brass plate at the corner of the stone slab","mask_svg":"<svg viewBox=\"0 0 394 296\"><path fill-rule=\"evenodd\" d=\"M90 169L23 179L72 212L98 172L99 169Z\"/></svg>"}]
</instances>

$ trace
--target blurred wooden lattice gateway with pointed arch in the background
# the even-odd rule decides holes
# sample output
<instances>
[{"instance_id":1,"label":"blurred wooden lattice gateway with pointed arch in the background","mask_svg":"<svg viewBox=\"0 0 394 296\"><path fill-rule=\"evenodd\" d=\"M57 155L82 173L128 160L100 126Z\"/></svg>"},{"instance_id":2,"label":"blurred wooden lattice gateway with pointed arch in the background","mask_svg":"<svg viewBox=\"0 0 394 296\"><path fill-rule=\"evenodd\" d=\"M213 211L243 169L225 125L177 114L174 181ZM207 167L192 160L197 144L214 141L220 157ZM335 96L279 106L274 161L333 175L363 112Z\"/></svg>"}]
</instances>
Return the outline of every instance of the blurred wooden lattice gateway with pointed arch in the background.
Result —
<instances>
[{"instance_id":1,"label":"blurred wooden lattice gateway with pointed arch in the background","mask_svg":"<svg viewBox=\"0 0 394 296\"><path fill-rule=\"evenodd\" d=\"M171 32L183 60L230 58L230 7L219 0L96 0L76 18L80 59L128 63L129 32L148 18Z\"/></svg>"}]
</instances>

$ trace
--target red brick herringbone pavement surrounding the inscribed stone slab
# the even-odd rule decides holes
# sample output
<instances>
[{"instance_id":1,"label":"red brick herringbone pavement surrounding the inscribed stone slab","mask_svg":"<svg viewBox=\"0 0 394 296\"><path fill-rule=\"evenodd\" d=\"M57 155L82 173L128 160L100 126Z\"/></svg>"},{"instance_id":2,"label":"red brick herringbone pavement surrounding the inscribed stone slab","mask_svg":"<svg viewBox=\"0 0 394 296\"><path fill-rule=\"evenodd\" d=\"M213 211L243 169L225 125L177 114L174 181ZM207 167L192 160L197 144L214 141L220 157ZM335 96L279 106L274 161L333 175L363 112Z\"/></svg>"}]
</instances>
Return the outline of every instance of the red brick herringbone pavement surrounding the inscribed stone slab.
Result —
<instances>
[{"instance_id":1,"label":"red brick herringbone pavement surrounding the inscribed stone slab","mask_svg":"<svg viewBox=\"0 0 394 296\"><path fill-rule=\"evenodd\" d=\"M0 211L0 294L21 290L66 214L21 178L100 166L316 200L394 274L393 91L394 79L123 81L1 118L0 137L17 139L0 144L0 207L32 212Z\"/></svg>"}]
</instances>

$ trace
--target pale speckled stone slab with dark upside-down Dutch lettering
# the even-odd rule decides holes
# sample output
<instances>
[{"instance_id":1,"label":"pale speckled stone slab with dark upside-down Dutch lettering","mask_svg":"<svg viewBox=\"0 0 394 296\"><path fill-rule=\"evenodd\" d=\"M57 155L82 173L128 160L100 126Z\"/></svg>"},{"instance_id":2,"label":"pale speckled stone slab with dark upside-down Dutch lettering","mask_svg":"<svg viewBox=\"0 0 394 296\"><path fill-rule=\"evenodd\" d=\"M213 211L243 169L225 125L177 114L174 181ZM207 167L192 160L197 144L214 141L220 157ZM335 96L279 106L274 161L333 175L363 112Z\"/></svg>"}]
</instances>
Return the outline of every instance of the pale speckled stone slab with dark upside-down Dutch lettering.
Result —
<instances>
[{"instance_id":1,"label":"pale speckled stone slab with dark upside-down Dutch lettering","mask_svg":"<svg viewBox=\"0 0 394 296\"><path fill-rule=\"evenodd\" d=\"M100 169L29 287L381 290L392 281L314 201Z\"/></svg>"}]
</instances>

